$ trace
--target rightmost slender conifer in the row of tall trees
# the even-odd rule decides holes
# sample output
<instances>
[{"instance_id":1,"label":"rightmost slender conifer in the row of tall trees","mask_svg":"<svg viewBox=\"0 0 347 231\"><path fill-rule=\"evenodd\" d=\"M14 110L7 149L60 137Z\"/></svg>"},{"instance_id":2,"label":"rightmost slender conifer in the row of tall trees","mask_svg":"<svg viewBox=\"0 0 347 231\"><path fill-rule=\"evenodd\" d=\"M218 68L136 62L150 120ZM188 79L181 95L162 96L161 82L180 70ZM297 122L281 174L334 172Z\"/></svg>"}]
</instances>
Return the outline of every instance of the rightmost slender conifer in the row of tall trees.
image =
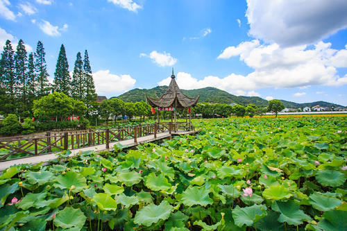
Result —
<instances>
[{"instance_id":1,"label":"rightmost slender conifer in the row of tall trees","mask_svg":"<svg viewBox=\"0 0 347 231\"><path fill-rule=\"evenodd\" d=\"M83 71L85 75L85 105L87 108L90 108L91 102L96 101L96 94L87 50L85 50L85 58L83 60Z\"/></svg>"}]
</instances>

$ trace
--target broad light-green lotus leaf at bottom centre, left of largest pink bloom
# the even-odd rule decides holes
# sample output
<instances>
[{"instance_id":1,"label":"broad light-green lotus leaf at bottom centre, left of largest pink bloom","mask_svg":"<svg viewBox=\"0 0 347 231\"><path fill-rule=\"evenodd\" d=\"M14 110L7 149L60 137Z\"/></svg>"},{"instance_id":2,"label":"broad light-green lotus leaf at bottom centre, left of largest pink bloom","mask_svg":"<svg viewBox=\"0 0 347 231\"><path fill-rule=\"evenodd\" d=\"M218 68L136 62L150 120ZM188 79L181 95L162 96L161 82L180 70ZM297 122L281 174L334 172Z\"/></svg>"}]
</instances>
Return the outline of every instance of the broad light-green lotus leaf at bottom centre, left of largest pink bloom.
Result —
<instances>
[{"instance_id":1,"label":"broad light-green lotus leaf at bottom centre, left of largest pink bloom","mask_svg":"<svg viewBox=\"0 0 347 231\"><path fill-rule=\"evenodd\" d=\"M188 187L182 194L183 205L210 205L213 200L208 196L209 193L210 190L205 187Z\"/></svg>"}]
</instances>

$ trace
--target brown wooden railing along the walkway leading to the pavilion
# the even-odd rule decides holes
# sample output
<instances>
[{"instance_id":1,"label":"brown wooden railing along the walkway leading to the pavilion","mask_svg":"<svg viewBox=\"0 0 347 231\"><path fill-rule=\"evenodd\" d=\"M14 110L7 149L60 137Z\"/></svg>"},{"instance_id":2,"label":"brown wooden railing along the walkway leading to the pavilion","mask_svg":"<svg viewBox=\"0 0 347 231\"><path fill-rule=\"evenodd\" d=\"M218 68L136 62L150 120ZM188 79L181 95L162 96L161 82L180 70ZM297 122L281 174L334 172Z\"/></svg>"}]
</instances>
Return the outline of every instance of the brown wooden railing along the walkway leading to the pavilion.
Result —
<instances>
[{"instance_id":1,"label":"brown wooden railing along the walkway leading to the pavilion","mask_svg":"<svg viewBox=\"0 0 347 231\"><path fill-rule=\"evenodd\" d=\"M18 157L55 153L67 149L85 148L105 144L110 148L110 143L126 139L154 135L162 132L178 132L193 130L189 123L149 123L138 126L106 128L99 130L83 130L73 132L46 132L37 137L10 137L0 139L0 161L13 160Z\"/></svg>"}]
</instances>

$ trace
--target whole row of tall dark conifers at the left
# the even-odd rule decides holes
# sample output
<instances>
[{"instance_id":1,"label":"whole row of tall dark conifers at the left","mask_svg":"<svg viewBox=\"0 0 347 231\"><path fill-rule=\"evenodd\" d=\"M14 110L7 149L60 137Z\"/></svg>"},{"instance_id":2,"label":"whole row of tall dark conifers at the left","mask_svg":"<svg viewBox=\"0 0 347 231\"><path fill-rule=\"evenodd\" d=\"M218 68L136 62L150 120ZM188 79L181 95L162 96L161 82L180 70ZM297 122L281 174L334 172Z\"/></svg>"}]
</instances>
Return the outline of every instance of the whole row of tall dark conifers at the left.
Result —
<instances>
[{"instance_id":1,"label":"whole row of tall dark conifers at the left","mask_svg":"<svg viewBox=\"0 0 347 231\"><path fill-rule=\"evenodd\" d=\"M53 84L49 83L45 55L40 41L31 53L26 52L23 40L19 40L15 50L10 40L6 41L0 60L0 114L33 117L34 101L52 92L62 92L93 110L91 105L96 105L96 94L87 50L83 59L81 53L77 53L71 77L62 44ZM88 110L85 115L88 116Z\"/></svg>"}]
</instances>

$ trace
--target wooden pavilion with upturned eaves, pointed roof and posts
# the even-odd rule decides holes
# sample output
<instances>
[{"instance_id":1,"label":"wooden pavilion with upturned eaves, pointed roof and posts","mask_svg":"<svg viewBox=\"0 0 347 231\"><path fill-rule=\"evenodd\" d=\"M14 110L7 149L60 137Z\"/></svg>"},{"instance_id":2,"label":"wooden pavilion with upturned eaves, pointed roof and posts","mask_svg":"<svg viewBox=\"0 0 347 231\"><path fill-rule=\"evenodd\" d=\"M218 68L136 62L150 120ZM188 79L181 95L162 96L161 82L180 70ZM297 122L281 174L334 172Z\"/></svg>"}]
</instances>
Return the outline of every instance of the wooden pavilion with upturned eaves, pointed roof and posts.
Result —
<instances>
[{"instance_id":1,"label":"wooden pavilion with upturned eaves, pointed roof and posts","mask_svg":"<svg viewBox=\"0 0 347 231\"><path fill-rule=\"evenodd\" d=\"M174 130L177 129L177 123L176 123L176 110L187 110L189 112L189 130L192 129L192 116L191 116L191 108L198 103L198 99L200 95L196 96L196 98L189 98L188 96L185 96L180 91L180 87L178 87L174 75L174 69L172 69L172 75L171 75L171 82L169 84L169 88L167 91L160 96L159 99L152 99L149 96L147 97L147 102L149 105L151 105L152 108L156 108L157 117L158 117L158 123L160 122L159 113L160 111L171 111L171 123L172 123L172 116L174 114ZM186 117L187 121L187 117Z\"/></svg>"}]
</instances>

